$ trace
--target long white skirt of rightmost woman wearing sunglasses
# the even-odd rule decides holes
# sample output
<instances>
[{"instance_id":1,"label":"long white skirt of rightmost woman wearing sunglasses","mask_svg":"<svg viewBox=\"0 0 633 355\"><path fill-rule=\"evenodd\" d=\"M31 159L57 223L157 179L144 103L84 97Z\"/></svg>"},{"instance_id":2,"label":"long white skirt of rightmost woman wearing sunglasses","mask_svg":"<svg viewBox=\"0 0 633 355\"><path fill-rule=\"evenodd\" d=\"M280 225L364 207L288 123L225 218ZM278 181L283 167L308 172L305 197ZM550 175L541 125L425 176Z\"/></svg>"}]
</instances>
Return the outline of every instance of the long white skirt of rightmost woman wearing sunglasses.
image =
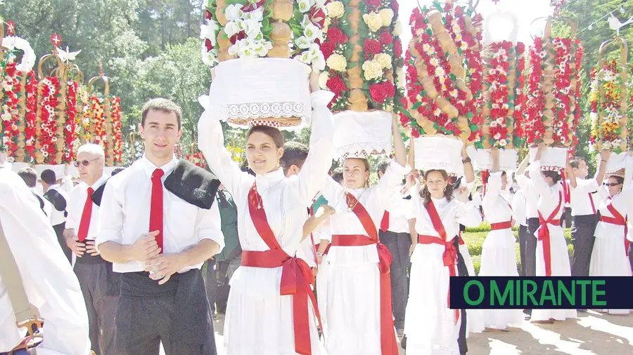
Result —
<instances>
[{"instance_id":1,"label":"long white skirt of rightmost woman wearing sunglasses","mask_svg":"<svg viewBox=\"0 0 633 355\"><path fill-rule=\"evenodd\" d=\"M589 276L631 276L631 264L625 250L624 227L600 222L596 235ZM597 233L596 233L597 234ZM629 309L603 309L609 314L629 314Z\"/></svg>"}]
</instances>

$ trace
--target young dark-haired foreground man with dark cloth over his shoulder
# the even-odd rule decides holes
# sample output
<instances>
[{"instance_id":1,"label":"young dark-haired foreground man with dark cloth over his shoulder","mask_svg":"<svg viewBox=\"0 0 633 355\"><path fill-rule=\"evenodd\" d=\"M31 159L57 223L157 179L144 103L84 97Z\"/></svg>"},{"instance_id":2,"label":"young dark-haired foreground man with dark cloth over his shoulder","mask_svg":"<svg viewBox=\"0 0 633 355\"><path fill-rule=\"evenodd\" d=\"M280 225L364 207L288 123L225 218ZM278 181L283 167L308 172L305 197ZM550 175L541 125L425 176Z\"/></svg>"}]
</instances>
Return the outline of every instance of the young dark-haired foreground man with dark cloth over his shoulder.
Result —
<instances>
[{"instance_id":1,"label":"young dark-haired foreground man with dark cloth over his shoulder","mask_svg":"<svg viewBox=\"0 0 633 355\"><path fill-rule=\"evenodd\" d=\"M200 267L224 248L219 181L174 156L181 116L169 100L147 102L145 155L103 193L96 249L122 273L117 355L158 355L160 342L167 354L217 354Z\"/></svg>"}]
</instances>

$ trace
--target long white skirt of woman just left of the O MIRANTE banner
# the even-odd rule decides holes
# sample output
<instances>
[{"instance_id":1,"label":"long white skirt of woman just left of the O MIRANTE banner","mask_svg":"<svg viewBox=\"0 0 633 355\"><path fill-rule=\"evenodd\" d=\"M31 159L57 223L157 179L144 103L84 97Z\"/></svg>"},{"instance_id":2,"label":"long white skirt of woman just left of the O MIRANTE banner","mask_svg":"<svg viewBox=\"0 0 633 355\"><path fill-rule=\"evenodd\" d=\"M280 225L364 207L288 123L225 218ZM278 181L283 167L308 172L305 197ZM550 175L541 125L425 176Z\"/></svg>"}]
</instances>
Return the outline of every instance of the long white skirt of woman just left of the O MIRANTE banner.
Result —
<instances>
[{"instance_id":1,"label":"long white skirt of woman just left of the O MIRANTE banner","mask_svg":"<svg viewBox=\"0 0 633 355\"><path fill-rule=\"evenodd\" d=\"M449 268L444 246L416 245L411 255L411 283L404 316L407 355L459 355L459 327L455 310L448 307ZM468 321L470 314L467 314Z\"/></svg>"}]
</instances>

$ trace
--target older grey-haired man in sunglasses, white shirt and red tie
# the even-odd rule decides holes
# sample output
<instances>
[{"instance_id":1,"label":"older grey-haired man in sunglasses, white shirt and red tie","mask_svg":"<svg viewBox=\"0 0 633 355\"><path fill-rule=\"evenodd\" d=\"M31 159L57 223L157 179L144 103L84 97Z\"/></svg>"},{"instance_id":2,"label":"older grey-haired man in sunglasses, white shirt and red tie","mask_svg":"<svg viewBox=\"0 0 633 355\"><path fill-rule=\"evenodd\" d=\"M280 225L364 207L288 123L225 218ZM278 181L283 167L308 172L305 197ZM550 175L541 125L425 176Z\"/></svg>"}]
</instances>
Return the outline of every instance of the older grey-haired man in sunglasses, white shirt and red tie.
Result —
<instances>
[{"instance_id":1,"label":"older grey-haired man in sunglasses, white shirt and red tie","mask_svg":"<svg viewBox=\"0 0 633 355\"><path fill-rule=\"evenodd\" d=\"M103 175L105 163L100 145L90 143L77 150L75 166L82 183L70 194L64 234L68 248L77 255L74 269L88 310L92 347L98 355L115 355L114 317L120 274L113 273L112 263L103 260L94 248L99 205L108 180Z\"/></svg>"}]
</instances>

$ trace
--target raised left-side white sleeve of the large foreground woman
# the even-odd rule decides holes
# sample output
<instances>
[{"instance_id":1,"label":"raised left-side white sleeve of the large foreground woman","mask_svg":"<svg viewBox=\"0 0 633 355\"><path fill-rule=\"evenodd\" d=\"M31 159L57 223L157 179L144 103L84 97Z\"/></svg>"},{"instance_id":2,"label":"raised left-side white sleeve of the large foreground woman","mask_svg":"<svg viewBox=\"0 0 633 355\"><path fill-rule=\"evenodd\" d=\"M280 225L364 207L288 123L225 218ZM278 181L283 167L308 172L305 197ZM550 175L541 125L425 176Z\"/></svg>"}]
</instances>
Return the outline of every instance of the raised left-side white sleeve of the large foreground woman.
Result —
<instances>
[{"instance_id":1,"label":"raised left-side white sleeve of the large foreground woman","mask_svg":"<svg viewBox=\"0 0 633 355\"><path fill-rule=\"evenodd\" d=\"M210 170L229 193L236 196L241 184L247 181L245 179L252 177L240 169L224 147L222 125L209 112L204 112L198 121L198 132L203 132L198 137L198 149L203 152Z\"/></svg>"}]
</instances>

